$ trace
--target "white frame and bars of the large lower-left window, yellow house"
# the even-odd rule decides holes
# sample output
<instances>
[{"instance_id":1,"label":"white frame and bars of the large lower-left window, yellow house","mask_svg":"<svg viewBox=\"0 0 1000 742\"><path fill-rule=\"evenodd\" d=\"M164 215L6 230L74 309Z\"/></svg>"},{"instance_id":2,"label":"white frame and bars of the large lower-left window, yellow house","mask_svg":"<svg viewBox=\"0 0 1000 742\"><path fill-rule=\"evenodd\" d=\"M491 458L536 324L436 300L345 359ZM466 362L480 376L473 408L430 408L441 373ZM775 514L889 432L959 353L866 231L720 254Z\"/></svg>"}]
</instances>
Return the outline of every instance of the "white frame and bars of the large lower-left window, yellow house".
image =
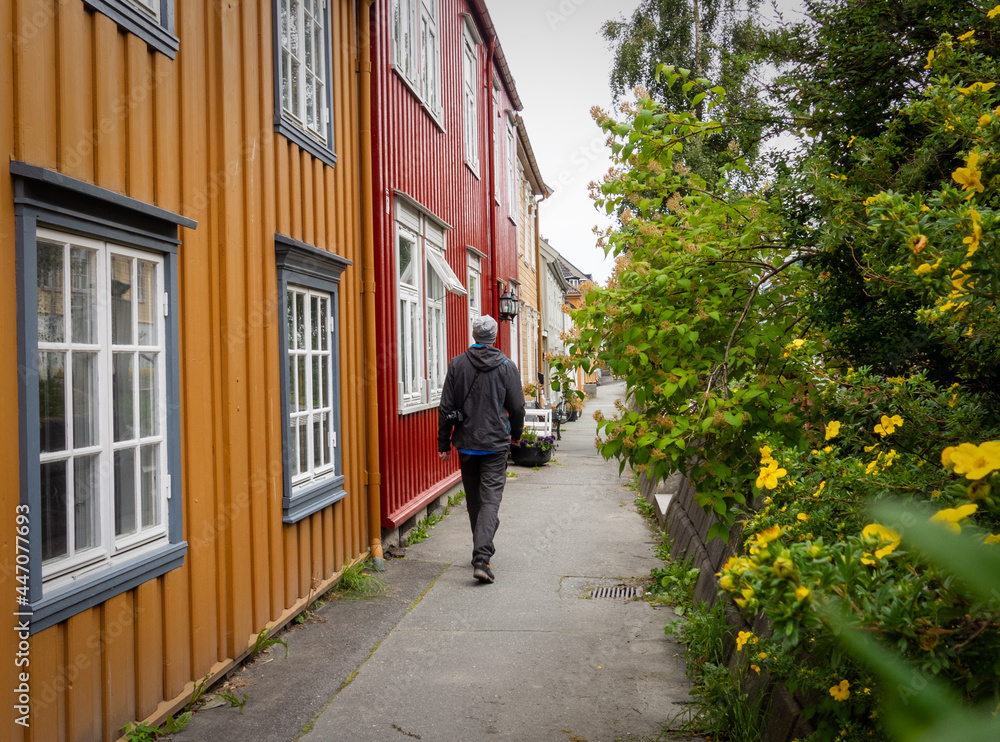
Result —
<instances>
[{"instance_id":1,"label":"white frame and bars of the large lower-left window, yellow house","mask_svg":"<svg viewBox=\"0 0 1000 742\"><path fill-rule=\"evenodd\" d=\"M136 555L145 551L155 549L168 539L168 503L170 492L170 475L168 473L168 442L166 431L167 421L167 381L166 381L166 326L164 323L165 290L164 290L164 260L156 253L143 250L135 250L112 242L97 240L92 238L71 235L51 229L39 228L36 232L39 242L57 243L63 246L63 270L69 273L67 280L64 273L61 291L63 294L64 316L65 310L71 309L71 292L73 290L71 249L74 247L93 250L96 255L95 271L95 292L94 311L96 312L96 342L78 343L73 342L69 336L72 324L72 314L70 322L64 322L64 337L62 342L38 341L39 358L41 353L61 352L65 354L63 364L64 372L64 429L65 447L61 451L41 452L39 464L56 463L60 461L66 464L66 556L51 558L42 563L42 581L45 590L58 589L71 584L81 574L96 569L114 565L125 559L132 559ZM128 344L115 344L112 340L111 331L111 307L112 301L110 291L112 286L111 265L113 257L124 257L129 261L130 287L135 288L136 270L138 261L144 261L156 266L156 288L152 298L152 310L155 317L155 343L138 344L138 338L134 335L132 342ZM164 299L158 300L158 297ZM130 332L138 332L139 324L139 302L130 301L131 326ZM70 360L74 352L97 353L96 374L97 374L97 443L82 449L74 447L74 421L70 412L74 408L73 390L73 363ZM113 440L113 421L115 406L113 404L112 378L115 354L131 353L133 365L131 367L132 377L129 379L131 392L131 413L133 437L126 440ZM138 368L139 356L154 356L153 374L156 379L155 404L156 414L150 418L153 423L153 432L147 435L142 434L141 425L141 391L140 373ZM152 505L156 513L157 520L149 526L143 526L143 503L142 503L142 482L143 463L142 450L145 446L156 446L155 465L159 476L156 478L156 489L153 493ZM115 495L114 495L114 458L118 451L132 450L134 452L133 466L133 514L135 518L134 532L116 535L115 533ZM91 548L77 552L74 543L75 531L75 511L76 507L70 507L74 498L74 475L75 466L73 462L78 457L97 455L98 483L98 503L97 503L97 544ZM44 516L40 518L38 524L42 528ZM44 538L44 534L43 534Z\"/></svg>"}]
</instances>

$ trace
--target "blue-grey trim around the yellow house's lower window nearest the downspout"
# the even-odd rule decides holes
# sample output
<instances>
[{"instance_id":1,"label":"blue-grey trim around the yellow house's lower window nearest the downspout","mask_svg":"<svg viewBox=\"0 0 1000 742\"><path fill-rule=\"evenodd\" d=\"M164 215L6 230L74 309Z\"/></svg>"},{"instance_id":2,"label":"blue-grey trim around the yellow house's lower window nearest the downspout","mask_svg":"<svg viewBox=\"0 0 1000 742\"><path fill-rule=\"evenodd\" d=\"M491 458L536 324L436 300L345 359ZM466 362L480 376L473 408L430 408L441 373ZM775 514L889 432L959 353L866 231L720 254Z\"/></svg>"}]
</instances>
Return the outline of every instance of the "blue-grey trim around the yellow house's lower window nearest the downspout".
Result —
<instances>
[{"instance_id":1,"label":"blue-grey trim around the yellow house's lower window nearest the downspout","mask_svg":"<svg viewBox=\"0 0 1000 742\"><path fill-rule=\"evenodd\" d=\"M352 265L350 260L326 250L307 245L304 242L274 235L274 252L278 264L278 306L281 307L279 322L279 344L281 352L281 455L284 462L284 496L282 498L282 520L297 523L303 518L319 512L347 495L344 489L340 435L340 302L338 293L340 275ZM337 447L334 451L335 475L327 476L312 483L292 489L290 444L288 441L288 321L285 316L285 295L289 285L303 286L323 291L330 295L332 337L330 338L331 364L333 366L334 388L334 430L337 433Z\"/></svg>"}]
</instances>

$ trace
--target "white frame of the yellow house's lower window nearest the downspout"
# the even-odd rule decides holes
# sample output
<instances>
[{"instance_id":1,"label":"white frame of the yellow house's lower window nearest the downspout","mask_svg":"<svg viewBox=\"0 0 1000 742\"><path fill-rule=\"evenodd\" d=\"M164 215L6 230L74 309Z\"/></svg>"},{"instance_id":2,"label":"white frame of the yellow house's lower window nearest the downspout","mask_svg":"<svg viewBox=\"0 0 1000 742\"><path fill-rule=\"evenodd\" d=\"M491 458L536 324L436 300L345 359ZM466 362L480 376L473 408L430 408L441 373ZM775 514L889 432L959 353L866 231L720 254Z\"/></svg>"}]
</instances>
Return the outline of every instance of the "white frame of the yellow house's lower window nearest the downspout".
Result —
<instances>
[{"instance_id":1,"label":"white frame of the yellow house's lower window nearest the downspout","mask_svg":"<svg viewBox=\"0 0 1000 742\"><path fill-rule=\"evenodd\" d=\"M298 339L296 333L293 332L298 318L298 297L302 298L302 308L304 310L304 347L298 347ZM301 377L298 374L293 374L291 368L289 368L288 373L289 411L287 425L290 448L289 466L294 493L303 486L311 485L324 477L336 474L337 426L334 402L336 390L333 384L336 376L333 349L333 297L326 291L289 284L285 292L285 312L286 320L289 324L287 337L289 366L293 364L293 359L296 359L294 364L297 370L297 359L302 359L303 362ZM316 319L323 320L316 335L320 343L319 348L311 347L312 331ZM324 340L326 347L323 347ZM318 384L315 378L317 361L319 362L319 374L321 377ZM323 378L324 376L325 378ZM304 395L301 393L298 395L299 399L304 400L304 403L301 406L293 407L292 400L296 396L295 392L300 391L298 387L299 378L302 379L306 387ZM316 396L314 390L320 392L318 405L314 403ZM322 448L317 451L317 422L321 426L321 436L325 427L327 440L325 451ZM303 451L299 446L299 440L301 439L296 435L299 427L305 428L305 468L300 466ZM316 463L317 453L322 454L322 460L319 464Z\"/></svg>"}]
</instances>

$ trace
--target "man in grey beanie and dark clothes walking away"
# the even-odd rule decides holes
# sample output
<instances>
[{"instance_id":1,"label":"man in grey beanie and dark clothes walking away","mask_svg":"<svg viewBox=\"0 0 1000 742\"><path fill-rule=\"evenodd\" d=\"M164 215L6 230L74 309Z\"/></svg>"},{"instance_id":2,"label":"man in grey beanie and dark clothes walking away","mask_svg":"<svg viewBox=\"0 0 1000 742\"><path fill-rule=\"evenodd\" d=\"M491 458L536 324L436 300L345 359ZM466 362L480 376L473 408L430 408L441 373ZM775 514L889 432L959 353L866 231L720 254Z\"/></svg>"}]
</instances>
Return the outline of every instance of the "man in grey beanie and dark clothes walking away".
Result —
<instances>
[{"instance_id":1,"label":"man in grey beanie and dark clothes walking away","mask_svg":"<svg viewBox=\"0 0 1000 742\"><path fill-rule=\"evenodd\" d=\"M489 583L507 452L524 430L524 392L517 367L493 346L496 320L478 317L472 337L472 347L448 364L438 408L438 455L448 461L452 444L458 451L472 524L472 576Z\"/></svg>"}]
</instances>

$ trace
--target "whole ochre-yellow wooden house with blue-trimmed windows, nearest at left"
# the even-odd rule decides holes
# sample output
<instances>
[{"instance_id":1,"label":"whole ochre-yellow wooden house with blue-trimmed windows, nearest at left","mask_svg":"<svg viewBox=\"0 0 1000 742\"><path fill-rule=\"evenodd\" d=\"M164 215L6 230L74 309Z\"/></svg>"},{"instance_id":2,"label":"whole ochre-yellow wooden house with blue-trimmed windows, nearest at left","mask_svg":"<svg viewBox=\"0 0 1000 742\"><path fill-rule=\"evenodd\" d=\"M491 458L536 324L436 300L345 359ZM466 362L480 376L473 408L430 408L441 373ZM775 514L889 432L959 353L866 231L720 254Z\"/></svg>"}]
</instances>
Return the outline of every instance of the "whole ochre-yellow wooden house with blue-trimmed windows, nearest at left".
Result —
<instances>
[{"instance_id":1,"label":"whole ochre-yellow wooden house with blue-trimmed windows, nearest at left","mask_svg":"<svg viewBox=\"0 0 1000 742\"><path fill-rule=\"evenodd\" d=\"M0 736L158 723L381 556L370 5L3 3Z\"/></svg>"}]
</instances>

